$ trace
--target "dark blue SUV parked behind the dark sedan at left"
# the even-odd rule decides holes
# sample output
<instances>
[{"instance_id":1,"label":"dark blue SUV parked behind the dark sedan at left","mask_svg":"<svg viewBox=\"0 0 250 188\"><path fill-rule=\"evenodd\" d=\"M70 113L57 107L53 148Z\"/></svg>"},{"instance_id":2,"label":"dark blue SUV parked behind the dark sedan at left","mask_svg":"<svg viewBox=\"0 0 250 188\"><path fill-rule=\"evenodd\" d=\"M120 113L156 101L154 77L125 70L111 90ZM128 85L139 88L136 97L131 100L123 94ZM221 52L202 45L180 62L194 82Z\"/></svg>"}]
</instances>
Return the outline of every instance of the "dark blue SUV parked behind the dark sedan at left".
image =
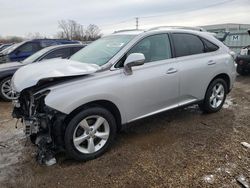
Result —
<instances>
[{"instance_id":1,"label":"dark blue SUV parked behind the dark sedan at left","mask_svg":"<svg viewBox=\"0 0 250 188\"><path fill-rule=\"evenodd\" d=\"M13 45L11 48L8 48L8 50L0 52L0 64L13 61L22 61L35 52L48 46L77 43L79 42L64 39L34 39L24 41Z\"/></svg>"}]
</instances>

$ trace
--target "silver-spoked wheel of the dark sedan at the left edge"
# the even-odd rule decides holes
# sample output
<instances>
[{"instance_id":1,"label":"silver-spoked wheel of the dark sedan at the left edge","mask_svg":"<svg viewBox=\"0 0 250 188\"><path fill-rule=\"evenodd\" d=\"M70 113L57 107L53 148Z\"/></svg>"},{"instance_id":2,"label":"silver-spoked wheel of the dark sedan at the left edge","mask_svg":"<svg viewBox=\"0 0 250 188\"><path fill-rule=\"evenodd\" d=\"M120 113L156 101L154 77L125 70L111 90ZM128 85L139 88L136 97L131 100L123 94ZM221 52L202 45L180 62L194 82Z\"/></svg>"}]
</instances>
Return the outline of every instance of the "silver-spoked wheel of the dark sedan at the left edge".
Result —
<instances>
[{"instance_id":1,"label":"silver-spoked wheel of the dark sedan at the left edge","mask_svg":"<svg viewBox=\"0 0 250 188\"><path fill-rule=\"evenodd\" d=\"M0 82L0 97L4 101L11 101L16 97L11 88L11 77L7 77Z\"/></svg>"}]
</instances>

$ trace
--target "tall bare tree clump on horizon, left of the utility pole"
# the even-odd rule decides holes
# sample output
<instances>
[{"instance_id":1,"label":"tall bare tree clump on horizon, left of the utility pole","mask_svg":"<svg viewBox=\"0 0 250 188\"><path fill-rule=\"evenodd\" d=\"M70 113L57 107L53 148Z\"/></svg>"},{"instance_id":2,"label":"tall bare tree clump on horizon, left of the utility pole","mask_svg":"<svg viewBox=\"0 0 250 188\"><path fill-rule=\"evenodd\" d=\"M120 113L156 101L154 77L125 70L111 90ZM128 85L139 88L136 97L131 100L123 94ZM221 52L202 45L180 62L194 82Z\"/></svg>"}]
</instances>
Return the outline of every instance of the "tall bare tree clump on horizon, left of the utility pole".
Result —
<instances>
[{"instance_id":1,"label":"tall bare tree clump on horizon, left of the utility pole","mask_svg":"<svg viewBox=\"0 0 250 188\"><path fill-rule=\"evenodd\" d=\"M87 30L83 25L77 23L74 20L61 20L58 22L58 27L61 29L57 33L57 37L70 40L95 40L101 37L101 30L96 25L89 25Z\"/></svg>"}]
</instances>

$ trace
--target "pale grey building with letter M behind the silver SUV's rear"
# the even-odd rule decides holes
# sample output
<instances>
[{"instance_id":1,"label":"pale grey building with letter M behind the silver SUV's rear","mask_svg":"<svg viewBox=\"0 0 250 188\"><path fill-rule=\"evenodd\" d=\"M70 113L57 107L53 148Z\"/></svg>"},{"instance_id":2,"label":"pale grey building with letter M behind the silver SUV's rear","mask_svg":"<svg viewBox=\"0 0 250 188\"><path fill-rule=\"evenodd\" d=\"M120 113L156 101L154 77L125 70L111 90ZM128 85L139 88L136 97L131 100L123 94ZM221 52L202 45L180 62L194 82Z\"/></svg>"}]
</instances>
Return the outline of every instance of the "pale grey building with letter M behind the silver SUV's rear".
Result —
<instances>
[{"instance_id":1,"label":"pale grey building with letter M behind the silver SUV's rear","mask_svg":"<svg viewBox=\"0 0 250 188\"><path fill-rule=\"evenodd\" d=\"M250 24L217 24L217 25L206 25L201 26L209 32L217 33L219 36L223 36L225 32L229 32L226 37L224 44L236 53L240 52L240 49L244 46L250 45L250 35L248 30L250 29Z\"/></svg>"}]
</instances>

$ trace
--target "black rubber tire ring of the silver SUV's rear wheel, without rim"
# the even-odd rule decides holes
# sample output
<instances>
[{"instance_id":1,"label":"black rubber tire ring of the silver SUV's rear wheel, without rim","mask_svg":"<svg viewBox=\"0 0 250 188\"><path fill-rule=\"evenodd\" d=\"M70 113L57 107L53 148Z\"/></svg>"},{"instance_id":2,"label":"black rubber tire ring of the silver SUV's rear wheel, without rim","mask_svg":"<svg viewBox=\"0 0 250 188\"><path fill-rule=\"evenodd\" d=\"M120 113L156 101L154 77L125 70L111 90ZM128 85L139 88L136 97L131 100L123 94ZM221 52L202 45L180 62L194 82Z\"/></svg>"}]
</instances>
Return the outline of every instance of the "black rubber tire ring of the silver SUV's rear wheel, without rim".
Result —
<instances>
[{"instance_id":1,"label":"black rubber tire ring of the silver SUV's rear wheel, without rim","mask_svg":"<svg viewBox=\"0 0 250 188\"><path fill-rule=\"evenodd\" d=\"M213 108L210 104L210 96L213 92L214 86L218 83L221 83L223 85L225 95L224 95L224 99L223 99L222 103L220 104L220 106L218 106L217 108ZM221 78L217 78L217 79L213 80L207 89L203 109L209 113L218 112L222 108L222 106L226 100L227 92L228 92L228 87L227 87L227 83L225 82L225 80L223 80Z\"/></svg>"}]
</instances>

